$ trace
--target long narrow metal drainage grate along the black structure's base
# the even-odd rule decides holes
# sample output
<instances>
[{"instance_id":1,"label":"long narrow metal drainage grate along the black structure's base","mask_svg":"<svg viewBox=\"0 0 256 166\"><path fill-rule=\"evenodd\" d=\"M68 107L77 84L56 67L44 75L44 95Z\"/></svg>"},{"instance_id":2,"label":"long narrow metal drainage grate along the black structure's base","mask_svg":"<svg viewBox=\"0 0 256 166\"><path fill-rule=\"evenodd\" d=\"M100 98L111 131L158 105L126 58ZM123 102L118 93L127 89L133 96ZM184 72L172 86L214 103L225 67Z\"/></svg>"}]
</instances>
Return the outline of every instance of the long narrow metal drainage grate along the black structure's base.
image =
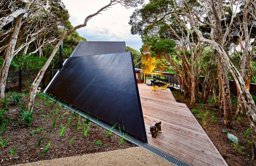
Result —
<instances>
[{"instance_id":1,"label":"long narrow metal drainage grate along the black structure's base","mask_svg":"<svg viewBox=\"0 0 256 166\"><path fill-rule=\"evenodd\" d=\"M41 93L41 94L45 95L45 93ZM87 114L85 114L84 112L82 112L82 111L80 111L80 110L78 110L78 109L76 109L76 108L74 108L72 106L70 107L66 103L58 101L58 100L56 100L56 99L54 99L52 97L50 97L50 99L55 101L56 103L59 103L60 105L63 105L64 107L66 107L66 108L76 112L77 114L81 115L84 118L88 118L89 117L90 121L92 121L94 123L98 123L98 125L103 127L104 129L109 130L109 131L115 133L118 136L123 136L123 133L122 132L120 133L120 131L118 129L116 129L116 128L111 129L112 126L110 126L109 124L106 124L105 122L103 122L101 120L98 120L98 122L97 122L96 118L91 117L91 116L87 116ZM151 146L151 145L149 145L149 144L147 144L145 142L142 142L139 139L134 138L134 137L132 137L130 135L126 136L125 139L128 142L130 142L130 143L132 143L134 145L140 146L143 149L146 149L146 150L152 152L153 154L157 155L158 157L161 157L162 159L170 162L173 165L176 165L176 166L191 166L191 165L185 163L184 161L182 161L180 159L177 159L176 157L174 157L174 156L172 156L172 155L170 155L170 154L168 154L166 152L163 152L163 151L161 151L161 150L159 150L159 149L157 149L157 148L155 148L155 147L153 147L153 146Z\"/></svg>"}]
</instances>

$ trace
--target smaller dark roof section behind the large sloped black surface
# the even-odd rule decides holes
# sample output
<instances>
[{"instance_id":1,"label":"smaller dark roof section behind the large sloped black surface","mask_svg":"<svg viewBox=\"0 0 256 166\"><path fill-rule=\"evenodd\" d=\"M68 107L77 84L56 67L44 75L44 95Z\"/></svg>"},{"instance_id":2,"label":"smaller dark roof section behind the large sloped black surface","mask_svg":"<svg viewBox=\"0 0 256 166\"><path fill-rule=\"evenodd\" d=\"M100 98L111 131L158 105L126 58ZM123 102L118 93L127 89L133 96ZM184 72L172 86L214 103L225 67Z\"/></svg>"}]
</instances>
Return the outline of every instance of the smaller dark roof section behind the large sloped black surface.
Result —
<instances>
[{"instance_id":1,"label":"smaller dark roof section behind the large sloped black surface","mask_svg":"<svg viewBox=\"0 0 256 166\"><path fill-rule=\"evenodd\" d=\"M125 52L125 42L81 41L77 44L71 57L100 55Z\"/></svg>"}]
</instances>

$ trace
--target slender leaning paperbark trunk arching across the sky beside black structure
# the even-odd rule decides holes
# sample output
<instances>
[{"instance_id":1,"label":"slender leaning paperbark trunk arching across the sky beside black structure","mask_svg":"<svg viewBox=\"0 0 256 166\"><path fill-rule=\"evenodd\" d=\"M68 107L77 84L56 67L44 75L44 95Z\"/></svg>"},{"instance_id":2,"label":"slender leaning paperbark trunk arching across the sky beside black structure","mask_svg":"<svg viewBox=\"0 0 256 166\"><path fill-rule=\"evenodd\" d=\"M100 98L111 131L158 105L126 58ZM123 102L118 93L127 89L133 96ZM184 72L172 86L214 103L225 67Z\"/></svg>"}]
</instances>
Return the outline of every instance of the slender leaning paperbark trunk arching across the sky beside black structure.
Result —
<instances>
[{"instance_id":1,"label":"slender leaning paperbark trunk arching across the sky beside black structure","mask_svg":"<svg viewBox=\"0 0 256 166\"><path fill-rule=\"evenodd\" d=\"M45 71L47 70L47 67L49 66L49 64L51 63L52 59L54 58L60 44L63 42L63 40L66 39L66 37L71 34L72 32L74 32L76 29L85 27L87 25L87 22L93 18L94 16L100 14L102 11L107 10L109 7L115 5L115 4L121 4L125 7L135 7L138 4L141 4L143 1L142 0L110 0L109 4L103 6L101 9L99 9L96 13L88 15L83 24L80 24L78 26L75 26L74 28L68 30L67 32L65 32L60 40L58 41L58 43L55 45L51 55L49 56L49 58L47 59L47 61L45 62L44 66L42 67L42 69L39 71L37 77L34 79L31 87L30 87L30 93L29 93L29 97L28 97L28 102L27 102L27 110L28 111L32 111L33 110L33 103L34 103L34 99L35 99L35 95L37 94L37 88L43 78L43 75L45 73Z\"/></svg>"}]
</instances>

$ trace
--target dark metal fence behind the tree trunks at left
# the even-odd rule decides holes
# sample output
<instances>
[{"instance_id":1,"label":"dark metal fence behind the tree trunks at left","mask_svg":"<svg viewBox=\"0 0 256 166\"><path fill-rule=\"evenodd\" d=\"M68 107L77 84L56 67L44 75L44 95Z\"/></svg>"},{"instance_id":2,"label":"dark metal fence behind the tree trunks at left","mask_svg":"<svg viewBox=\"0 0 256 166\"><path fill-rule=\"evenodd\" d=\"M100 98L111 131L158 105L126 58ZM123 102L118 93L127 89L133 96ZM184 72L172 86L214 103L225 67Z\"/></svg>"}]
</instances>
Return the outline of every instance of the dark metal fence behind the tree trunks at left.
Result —
<instances>
[{"instance_id":1,"label":"dark metal fence behind the tree trunks at left","mask_svg":"<svg viewBox=\"0 0 256 166\"><path fill-rule=\"evenodd\" d=\"M45 88L57 73L57 71L58 70L56 69L47 70L42 81L40 82L39 87ZM19 89L20 92L28 91L38 72L39 71L31 72L22 70L9 71L6 79L5 90Z\"/></svg>"}]
</instances>

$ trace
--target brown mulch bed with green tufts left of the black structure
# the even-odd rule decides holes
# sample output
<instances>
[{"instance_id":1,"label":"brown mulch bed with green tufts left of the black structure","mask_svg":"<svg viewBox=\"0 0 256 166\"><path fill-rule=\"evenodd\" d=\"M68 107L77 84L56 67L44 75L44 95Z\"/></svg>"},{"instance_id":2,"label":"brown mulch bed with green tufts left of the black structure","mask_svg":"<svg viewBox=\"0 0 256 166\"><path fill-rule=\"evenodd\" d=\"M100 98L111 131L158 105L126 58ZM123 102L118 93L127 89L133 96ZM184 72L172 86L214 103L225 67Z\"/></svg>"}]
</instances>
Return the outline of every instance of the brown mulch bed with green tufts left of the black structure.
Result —
<instances>
[{"instance_id":1,"label":"brown mulch bed with green tufts left of the black structure","mask_svg":"<svg viewBox=\"0 0 256 166\"><path fill-rule=\"evenodd\" d=\"M27 98L22 97L21 103L26 102ZM86 124L85 118L47 100L42 95L38 95L35 100L32 125L29 127L21 118L19 104L10 104L8 108L2 118L8 120L8 123L5 132L0 136L3 140L8 138L10 140L5 147L0 147L0 165L35 162L134 146L128 142L120 145L120 138L117 135L111 134L107 137L107 131L94 123L90 124L88 135L84 136L84 125L85 128L89 125ZM56 121L55 127L53 127L54 121ZM60 137L61 126L62 128L66 126L66 131ZM31 134L36 129L41 130L34 132L34 135ZM15 147L15 154L12 156L10 149Z\"/></svg>"}]
</instances>

